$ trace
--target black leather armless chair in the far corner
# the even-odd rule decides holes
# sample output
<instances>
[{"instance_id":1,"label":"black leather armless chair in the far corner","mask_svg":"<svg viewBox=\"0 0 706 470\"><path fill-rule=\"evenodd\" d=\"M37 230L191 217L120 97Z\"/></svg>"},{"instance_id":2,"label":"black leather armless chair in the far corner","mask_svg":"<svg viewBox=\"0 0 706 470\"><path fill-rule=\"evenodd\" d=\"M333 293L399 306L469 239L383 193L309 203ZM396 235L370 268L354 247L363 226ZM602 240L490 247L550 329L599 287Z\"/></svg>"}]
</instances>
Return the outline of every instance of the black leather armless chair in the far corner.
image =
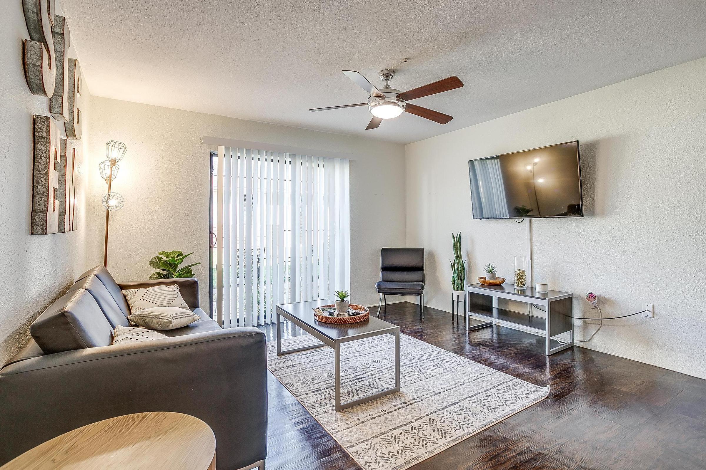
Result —
<instances>
[{"instance_id":1,"label":"black leather armless chair in the far corner","mask_svg":"<svg viewBox=\"0 0 706 470\"><path fill-rule=\"evenodd\" d=\"M424 321L424 248L383 248L380 252L378 316L388 295L419 295L419 318Z\"/></svg>"}]
</instances>

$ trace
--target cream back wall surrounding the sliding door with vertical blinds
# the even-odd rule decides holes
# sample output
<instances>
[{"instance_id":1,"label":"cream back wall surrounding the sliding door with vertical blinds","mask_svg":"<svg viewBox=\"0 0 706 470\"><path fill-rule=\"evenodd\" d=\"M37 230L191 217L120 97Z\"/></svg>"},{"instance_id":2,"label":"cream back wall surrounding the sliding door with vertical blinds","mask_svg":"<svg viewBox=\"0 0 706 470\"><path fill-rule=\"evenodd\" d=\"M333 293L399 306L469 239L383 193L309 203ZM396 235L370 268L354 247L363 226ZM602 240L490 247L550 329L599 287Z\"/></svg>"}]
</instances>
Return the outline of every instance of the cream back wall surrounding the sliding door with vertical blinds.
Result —
<instances>
[{"instance_id":1,"label":"cream back wall surrounding the sliding door with vertical blinds","mask_svg":"<svg viewBox=\"0 0 706 470\"><path fill-rule=\"evenodd\" d=\"M380 249L405 244L405 149L360 137L179 111L106 98L92 99L92 171L104 144L124 142L114 191L126 203L111 216L108 268L119 280L146 279L148 261L164 249L195 252L202 304L208 305L209 152L202 136L354 154L350 176L352 301L377 304ZM106 189L90 175L88 252L102 263Z\"/></svg>"}]
</instances>

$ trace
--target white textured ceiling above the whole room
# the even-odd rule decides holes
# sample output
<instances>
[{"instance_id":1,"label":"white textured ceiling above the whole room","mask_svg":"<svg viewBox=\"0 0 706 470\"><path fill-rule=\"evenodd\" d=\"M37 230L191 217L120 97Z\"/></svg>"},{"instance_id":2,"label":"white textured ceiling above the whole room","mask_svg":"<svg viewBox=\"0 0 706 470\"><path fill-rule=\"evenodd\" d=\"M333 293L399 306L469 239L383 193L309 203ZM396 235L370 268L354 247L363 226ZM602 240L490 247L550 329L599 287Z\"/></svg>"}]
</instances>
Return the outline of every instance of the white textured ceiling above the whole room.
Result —
<instances>
[{"instance_id":1,"label":"white textured ceiling above the whole room","mask_svg":"<svg viewBox=\"0 0 706 470\"><path fill-rule=\"evenodd\" d=\"M61 0L92 94L301 128L414 142L706 56L704 0ZM340 70L411 89L365 130L366 93ZM509 130L508 130L509 131Z\"/></svg>"}]
</instances>

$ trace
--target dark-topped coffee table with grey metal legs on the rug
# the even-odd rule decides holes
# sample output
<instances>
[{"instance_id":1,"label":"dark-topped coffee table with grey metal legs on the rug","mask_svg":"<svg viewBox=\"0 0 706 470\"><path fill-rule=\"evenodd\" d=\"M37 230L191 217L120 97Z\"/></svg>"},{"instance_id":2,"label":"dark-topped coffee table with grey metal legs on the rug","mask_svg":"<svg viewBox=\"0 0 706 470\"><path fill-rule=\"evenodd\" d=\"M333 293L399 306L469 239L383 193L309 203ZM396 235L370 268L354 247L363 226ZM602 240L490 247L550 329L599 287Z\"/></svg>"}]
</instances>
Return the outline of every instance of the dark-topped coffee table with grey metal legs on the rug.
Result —
<instances>
[{"instance_id":1,"label":"dark-topped coffee table with grey metal legs on the rug","mask_svg":"<svg viewBox=\"0 0 706 470\"><path fill-rule=\"evenodd\" d=\"M335 409L354 407L357 404L369 402L385 395L400 391L400 327L388 323L374 316L359 323L348 323L347 325L335 325L333 323L323 323L316 320L313 309L325 304L333 304L325 299L312 300L309 302L296 302L294 304L277 305L277 356L311 350L321 345L311 345L296 347L287 351L282 351L282 323L280 317L291 321L302 330L309 333L317 340L334 350L334 380L335 380ZM349 402L341 402L341 345L344 342L362 340L379 335L393 335L395 337L395 387L382 390L380 392L366 395Z\"/></svg>"}]
</instances>

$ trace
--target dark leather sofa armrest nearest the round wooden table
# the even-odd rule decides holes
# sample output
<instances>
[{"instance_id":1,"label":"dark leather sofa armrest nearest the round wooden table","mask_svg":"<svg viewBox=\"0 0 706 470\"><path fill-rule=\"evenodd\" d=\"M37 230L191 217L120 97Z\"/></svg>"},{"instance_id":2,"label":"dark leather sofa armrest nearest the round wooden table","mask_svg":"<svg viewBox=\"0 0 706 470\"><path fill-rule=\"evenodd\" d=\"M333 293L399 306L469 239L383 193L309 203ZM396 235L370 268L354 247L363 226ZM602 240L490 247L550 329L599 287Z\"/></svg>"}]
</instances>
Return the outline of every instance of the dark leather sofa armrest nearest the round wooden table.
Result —
<instances>
[{"instance_id":1,"label":"dark leather sofa armrest nearest the round wooden table","mask_svg":"<svg viewBox=\"0 0 706 470\"><path fill-rule=\"evenodd\" d=\"M257 328L47 354L0 371L0 465L67 431L169 411L208 423L219 469L267 452L267 356Z\"/></svg>"}]
</instances>

